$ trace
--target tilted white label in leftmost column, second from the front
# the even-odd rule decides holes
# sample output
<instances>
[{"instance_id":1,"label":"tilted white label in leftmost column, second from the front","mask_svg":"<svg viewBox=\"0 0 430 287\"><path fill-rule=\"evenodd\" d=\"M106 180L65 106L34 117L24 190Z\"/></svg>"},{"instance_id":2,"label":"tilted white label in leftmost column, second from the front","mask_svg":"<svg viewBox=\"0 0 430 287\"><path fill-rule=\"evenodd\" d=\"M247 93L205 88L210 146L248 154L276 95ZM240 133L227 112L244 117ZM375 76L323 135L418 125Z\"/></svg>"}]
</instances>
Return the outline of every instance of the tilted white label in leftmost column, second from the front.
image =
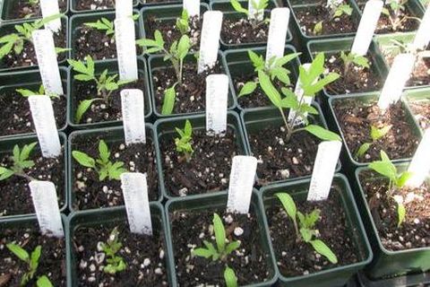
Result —
<instances>
[{"instance_id":1,"label":"tilted white label in leftmost column, second from the front","mask_svg":"<svg viewBox=\"0 0 430 287\"><path fill-rule=\"evenodd\" d=\"M29 103L42 155L45 158L56 158L61 154L61 144L51 99L45 95L30 96Z\"/></svg>"}]
</instances>

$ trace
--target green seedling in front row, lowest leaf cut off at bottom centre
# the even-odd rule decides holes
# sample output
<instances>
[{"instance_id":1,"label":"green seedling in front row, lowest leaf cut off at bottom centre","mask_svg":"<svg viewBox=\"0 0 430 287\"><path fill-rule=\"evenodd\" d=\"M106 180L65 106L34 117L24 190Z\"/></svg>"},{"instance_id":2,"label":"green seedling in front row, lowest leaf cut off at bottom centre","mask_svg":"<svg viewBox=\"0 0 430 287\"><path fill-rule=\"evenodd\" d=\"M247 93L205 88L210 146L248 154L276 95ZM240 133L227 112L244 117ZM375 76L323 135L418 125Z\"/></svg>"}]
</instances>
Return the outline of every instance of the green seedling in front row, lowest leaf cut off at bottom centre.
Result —
<instances>
[{"instance_id":1,"label":"green seedling in front row, lowest leaf cut off at bottom centre","mask_svg":"<svg viewBox=\"0 0 430 287\"><path fill-rule=\"evenodd\" d=\"M228 287L237 286L237 278L235 271L228 267L227 257L233 251L240 247L240 241L231 241L226 244L226 229L222 223L221 218L217 213L213 213L213 230L215 232L216 248L213 243L203 240L205 248L195 248L193 250L193 256L204 257L206 259L212 258L212 261L221 261L226 263L226 269L224 271L224 279Z\"/></svg>"}]
</instances>

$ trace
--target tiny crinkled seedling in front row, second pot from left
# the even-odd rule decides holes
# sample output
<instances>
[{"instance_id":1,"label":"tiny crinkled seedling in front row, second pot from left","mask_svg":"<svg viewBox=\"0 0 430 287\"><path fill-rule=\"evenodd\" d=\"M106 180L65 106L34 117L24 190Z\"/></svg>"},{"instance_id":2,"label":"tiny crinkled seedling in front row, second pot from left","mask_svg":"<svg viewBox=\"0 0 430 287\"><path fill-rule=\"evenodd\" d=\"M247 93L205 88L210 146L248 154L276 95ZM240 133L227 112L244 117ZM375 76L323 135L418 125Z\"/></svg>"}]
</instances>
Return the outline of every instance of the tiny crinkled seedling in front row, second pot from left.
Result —
<instances>
[{"instance_id":1,"label":"tiny crinkled seedling in front row, second pot from left","mask_svg":"<svg viewBox=\"0 0 430 287\"><path fill-rule=\"evenodd\" d=\"M106 254L107 265L103 268L103 272L115 275L118 272L125 271L127 265L123 257L117 255L123 244L118 239L119 231L114 228L109 235L106 243L101 243L101 249Z\"/></svg>"}]
</instances>

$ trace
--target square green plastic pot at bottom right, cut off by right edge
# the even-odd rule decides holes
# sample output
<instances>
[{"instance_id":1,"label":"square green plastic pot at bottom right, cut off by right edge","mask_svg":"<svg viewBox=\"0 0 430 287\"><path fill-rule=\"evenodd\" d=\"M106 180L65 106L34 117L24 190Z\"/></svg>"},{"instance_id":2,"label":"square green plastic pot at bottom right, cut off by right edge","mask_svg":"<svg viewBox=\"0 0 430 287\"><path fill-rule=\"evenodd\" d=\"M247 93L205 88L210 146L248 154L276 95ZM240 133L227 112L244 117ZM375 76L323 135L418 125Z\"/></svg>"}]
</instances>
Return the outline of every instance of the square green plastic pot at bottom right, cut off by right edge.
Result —
<instances>
[{"instance_id":1,"label":"square green plastic pot at bottom right, cut off by right edge","mask_svg":"<svg viewBox=\"0 0 430 287\"><path fill-rule=\"evenodd\" d=\"M396 164L398 170L407 170L409 163ZM391 251L383 247L379 232L374 224L372 213L367 204L365 191L362 187L360 174L368 168L356 170L356 199L360 207L361 217L365 223L367 234L374 250L374 260L366 267L366 274L370 278L378 279L389 276L423 273L430 270L430 247L411 248L407 250ZM427 178L430 184L430 178Z\"/></svg>"}]
</instances>

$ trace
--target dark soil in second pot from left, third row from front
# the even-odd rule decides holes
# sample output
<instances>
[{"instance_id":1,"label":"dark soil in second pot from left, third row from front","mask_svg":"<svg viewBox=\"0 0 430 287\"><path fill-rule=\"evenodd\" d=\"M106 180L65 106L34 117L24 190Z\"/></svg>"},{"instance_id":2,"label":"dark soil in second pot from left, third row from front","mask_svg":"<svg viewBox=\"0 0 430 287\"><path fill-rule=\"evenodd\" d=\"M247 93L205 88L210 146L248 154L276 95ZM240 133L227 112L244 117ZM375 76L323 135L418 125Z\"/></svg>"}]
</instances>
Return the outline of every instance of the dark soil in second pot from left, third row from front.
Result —
<instances>
[{"instance_id":1,"label":"dark soil in second pot from left, third row from front","mask_svg":"<svg viewBox=\"0 0 430 287\"><path fill-rule=\"evenodd\" d=\"M144 94L144 109L145 109L145 115L148 114L148 95L146 95L146 85L145 81L143 80L144 75L142 73L139 73L139 80L133 83L127 83L125 85L122 85L120 89L117 89L116 91L113 91L110 95L110 103L107 105L102 100L96 100L92 102L90 109L88 109L82 116L80 123L75 124L90 124L90 123L99 123L99 122L107 122L107 121L114 121L114 120L121 120L122 119L122 110L121 110L121 96L120 92L124 89L139 89L143 91ZM79 82L74 80L73 81L73 97L76 99L74 100L75 107L73 107L73 110L75 111L78 107L78 104L82 100L90 100L93 98L98 98L98 92L97 92L97 84L94 81L91 82ZM73 115L73 122L74 115Z\"/></svg>"}]
</instances>

